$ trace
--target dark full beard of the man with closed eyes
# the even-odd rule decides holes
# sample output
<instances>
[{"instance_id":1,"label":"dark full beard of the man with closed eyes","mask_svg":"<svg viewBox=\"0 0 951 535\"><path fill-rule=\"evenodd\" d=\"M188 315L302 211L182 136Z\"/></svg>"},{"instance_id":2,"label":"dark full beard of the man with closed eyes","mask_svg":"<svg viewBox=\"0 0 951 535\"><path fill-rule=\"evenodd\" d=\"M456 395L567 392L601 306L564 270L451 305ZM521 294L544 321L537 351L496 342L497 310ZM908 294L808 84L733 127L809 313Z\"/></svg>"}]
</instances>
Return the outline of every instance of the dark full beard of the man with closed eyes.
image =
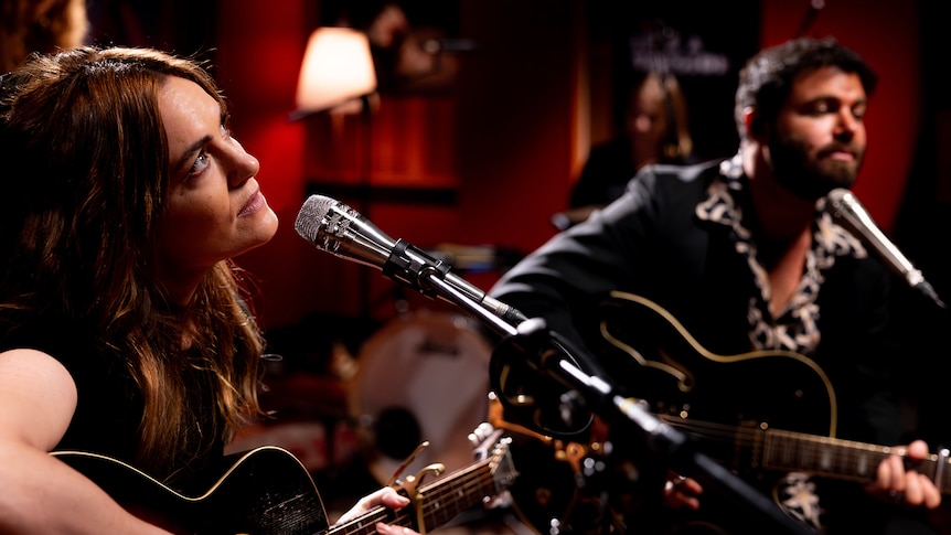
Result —
<instances>
[{"instance_id":1,"label":"dark full beard of the man with closed eyes","mask_svg":"<svg viewBox=\"0 0 951 535\"><path fill-rule=\"evenodd\" d=\"M819 154L837 147L826 147ZM805 201L816 201L836 188L852 188L862 164L864 151L851 147L853 161L812 159L809 151L794 139L774 139L769 146L772 175L793 195Z\"/></svg>"}]
</instances>

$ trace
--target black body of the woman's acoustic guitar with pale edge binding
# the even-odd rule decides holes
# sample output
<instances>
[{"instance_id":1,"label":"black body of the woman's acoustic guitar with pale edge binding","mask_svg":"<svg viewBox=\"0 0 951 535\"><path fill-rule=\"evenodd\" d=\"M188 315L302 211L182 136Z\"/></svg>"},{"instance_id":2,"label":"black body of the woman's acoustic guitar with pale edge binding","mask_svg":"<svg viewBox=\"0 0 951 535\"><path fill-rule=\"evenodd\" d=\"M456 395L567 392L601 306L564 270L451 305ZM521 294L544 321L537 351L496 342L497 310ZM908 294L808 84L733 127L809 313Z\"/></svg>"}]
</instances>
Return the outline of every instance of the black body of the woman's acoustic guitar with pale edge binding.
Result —
<instances>
[{"instance_id":1,"label":"black body of the woman's acoustic guitar with pale edge binding","mask_svg":"<svg viewBox=\"0 0 951 535\"><path fill-rule=\"evenodd\" d=\"M79 451L53 453L127 510L182 534L316 534L328 528L320 494L300 461L276 447L232 456L200 495L170 489L116 459Z\"/></svg>"}]
</instances>

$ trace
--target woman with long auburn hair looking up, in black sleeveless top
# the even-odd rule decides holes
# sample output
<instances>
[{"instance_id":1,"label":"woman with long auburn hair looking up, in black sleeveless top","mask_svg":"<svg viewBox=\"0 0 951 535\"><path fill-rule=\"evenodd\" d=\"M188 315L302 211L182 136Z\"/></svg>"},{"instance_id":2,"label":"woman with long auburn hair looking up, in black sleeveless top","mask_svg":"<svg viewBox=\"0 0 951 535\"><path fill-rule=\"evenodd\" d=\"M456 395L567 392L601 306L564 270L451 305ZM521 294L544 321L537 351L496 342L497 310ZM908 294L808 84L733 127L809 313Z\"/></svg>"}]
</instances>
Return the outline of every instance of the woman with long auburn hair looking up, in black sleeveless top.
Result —
<instances>
[{"instance_id":1,"label":"woman with long auburn hair looking up, in black sleeveless top","mask_svg":"<svg viewBox=\"0 0 951 535\"><path fill-rule=\"evenodd\" d=\"M277 217L196 63L79 47L0 84L0 532L162 533L55 450L170 488L257 400L261 333L231 258ZM345 517L408 500L383 489ZM415 533L385 524L380 533Z\"/></svg>"}]
</instances>

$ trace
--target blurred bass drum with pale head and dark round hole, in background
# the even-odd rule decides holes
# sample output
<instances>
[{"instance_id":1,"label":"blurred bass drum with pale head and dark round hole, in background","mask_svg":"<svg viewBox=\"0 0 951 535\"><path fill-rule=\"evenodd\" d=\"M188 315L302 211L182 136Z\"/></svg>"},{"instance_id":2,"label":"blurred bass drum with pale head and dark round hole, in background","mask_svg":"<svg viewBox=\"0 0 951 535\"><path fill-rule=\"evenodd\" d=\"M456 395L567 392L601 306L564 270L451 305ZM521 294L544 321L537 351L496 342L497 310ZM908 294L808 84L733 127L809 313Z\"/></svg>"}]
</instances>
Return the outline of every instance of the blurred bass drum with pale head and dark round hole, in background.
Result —
<instances>
[{"instance_id":1,"label":"blurred bass drum with pale head and dark round hole, in background","mask_svg":"<svg viewBox=\"0 0 951 535\"><path fill-rule=\"evenodd\" d=\"M399 479L432 463L451 473L473 462L469 434L488 416L492 350L470 321L406 314L361 349L348 405L360 452L382 484L427 440Z\"/></svg>"}]
</instances>

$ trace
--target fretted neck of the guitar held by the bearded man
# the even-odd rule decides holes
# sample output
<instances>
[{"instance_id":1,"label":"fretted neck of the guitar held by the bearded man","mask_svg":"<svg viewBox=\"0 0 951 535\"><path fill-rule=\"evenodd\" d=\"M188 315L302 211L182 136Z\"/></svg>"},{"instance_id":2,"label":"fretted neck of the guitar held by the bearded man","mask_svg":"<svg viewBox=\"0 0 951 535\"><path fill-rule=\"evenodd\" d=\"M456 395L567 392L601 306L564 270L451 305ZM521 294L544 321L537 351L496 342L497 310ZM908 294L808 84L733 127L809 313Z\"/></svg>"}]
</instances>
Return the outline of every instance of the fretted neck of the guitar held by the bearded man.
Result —
<instances>
[{"instance_id":1,"label":"fretted neck of the guitar held by the bearded man","mask_svg":"<svg viewBox=\"0 0 951 535\"><path fill-rule=\"evenodd\" d=\"M760 461L767 470L805 470L829 478L870 482L879 462L891 454L906 457L900 448L875 446L851 440L767 430L761 436ZM951 492L947 452L930 454L916 466L942 493Z\"/></svg>"}]
</instances>

